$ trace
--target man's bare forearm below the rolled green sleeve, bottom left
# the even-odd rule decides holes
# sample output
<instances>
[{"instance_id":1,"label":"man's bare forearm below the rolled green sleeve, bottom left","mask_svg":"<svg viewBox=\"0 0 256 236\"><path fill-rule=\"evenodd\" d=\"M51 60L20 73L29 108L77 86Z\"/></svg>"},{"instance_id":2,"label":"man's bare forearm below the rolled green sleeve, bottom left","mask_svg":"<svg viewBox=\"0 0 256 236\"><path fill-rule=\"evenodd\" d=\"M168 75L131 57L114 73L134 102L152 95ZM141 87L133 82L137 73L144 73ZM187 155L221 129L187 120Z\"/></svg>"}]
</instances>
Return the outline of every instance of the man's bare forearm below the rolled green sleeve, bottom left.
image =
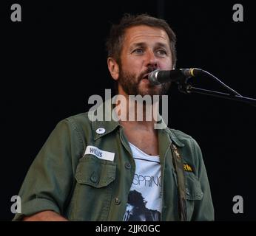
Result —
<instances>
[{"instance_id":1,"label":"man's bare forearm below the rolled green sleeve, bottom left","mask_svg":"<svg viewBox=\"0 0 256 236\"><path fill-rule=\"evenodd\" d=\"M66 218L53 211L38 212L35 215L26 216L23 221L67 221Z\"/></svg>"}]
</instances>

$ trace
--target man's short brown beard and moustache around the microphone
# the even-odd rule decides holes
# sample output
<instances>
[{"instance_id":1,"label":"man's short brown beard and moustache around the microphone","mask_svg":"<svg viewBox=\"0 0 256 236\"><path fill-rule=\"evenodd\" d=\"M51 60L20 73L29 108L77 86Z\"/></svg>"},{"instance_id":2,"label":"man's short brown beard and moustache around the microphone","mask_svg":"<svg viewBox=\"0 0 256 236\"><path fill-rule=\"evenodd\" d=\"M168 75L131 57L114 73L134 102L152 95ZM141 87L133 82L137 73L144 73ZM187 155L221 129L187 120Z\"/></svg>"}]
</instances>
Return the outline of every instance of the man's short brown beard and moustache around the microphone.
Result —
<instances>
[{"instance_id":1,"label":"man's short brown beard and moustache around the microphone","mask_svg":"<svg viewBox=\"0 0 256 236\"><path fill-rule=\"evenodd\" d=\"M119 83L122 87L122 89L125 91L128 95L165 95L167 94L167 91L169 90L169 87L171 86L171 82L168 83L161 83L158 86L154 86L149 84L148 88L141 89L139 87L140 82L142 79L144 79L145 74L152 72L154 69L147 69L145 72L142 72L141 74L136 77L135 74L125 72L121 66L120 66L120 74L119 74Z\"/></svg>"}]
</instances>

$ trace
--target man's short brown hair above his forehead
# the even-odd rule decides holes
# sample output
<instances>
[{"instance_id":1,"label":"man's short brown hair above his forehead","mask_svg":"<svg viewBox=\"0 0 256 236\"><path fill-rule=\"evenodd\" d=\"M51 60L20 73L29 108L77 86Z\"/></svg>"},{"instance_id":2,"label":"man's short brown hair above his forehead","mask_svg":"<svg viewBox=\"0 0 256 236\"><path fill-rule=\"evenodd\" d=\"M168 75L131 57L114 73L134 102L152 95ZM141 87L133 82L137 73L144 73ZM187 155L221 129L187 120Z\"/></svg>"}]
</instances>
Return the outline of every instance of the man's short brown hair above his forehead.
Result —
<instances>
[{"instance_id":1,"label":"man's short brown hair above his forehead","mask_svg":"<svg viewBox=\"0 0 256 236\"><path fill-rule=\"evenodd\" d=\"M163 19L155 18L147 14L141 15L129 15L124 14L119 24L113 24L110 30L110 36L107 39L107 55L108 57L114 58L117 63L121 63L121 50L123 48L124 34L129 27L138 25L146 25L149 27L157 27L165 30L169 37L169 46L172 53L172 64L176 64L176 35Z\"/></svg>"}]
</instances>

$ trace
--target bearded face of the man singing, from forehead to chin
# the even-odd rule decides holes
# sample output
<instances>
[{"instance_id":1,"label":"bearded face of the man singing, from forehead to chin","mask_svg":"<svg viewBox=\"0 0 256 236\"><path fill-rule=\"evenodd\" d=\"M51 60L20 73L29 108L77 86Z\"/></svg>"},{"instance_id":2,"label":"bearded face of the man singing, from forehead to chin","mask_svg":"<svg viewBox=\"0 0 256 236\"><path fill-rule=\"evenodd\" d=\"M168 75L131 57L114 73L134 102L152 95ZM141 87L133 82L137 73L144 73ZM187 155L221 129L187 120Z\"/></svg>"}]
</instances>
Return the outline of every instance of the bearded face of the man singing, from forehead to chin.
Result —
<instances>
[{"instance_id":1,"label":"bearded face of the man singing, from forehead to chin","mask_svg":"<svg viewBox=\"0 0 256 236\"><path fill-rule=\"evenodd\" d=\"M119 67L120 93L141 96L166 94L170 83L152 86L147 80L149 72L155 69L172 69L172 53L166 32L147 26L127 29Z\"/></svg>"}]
</instances>

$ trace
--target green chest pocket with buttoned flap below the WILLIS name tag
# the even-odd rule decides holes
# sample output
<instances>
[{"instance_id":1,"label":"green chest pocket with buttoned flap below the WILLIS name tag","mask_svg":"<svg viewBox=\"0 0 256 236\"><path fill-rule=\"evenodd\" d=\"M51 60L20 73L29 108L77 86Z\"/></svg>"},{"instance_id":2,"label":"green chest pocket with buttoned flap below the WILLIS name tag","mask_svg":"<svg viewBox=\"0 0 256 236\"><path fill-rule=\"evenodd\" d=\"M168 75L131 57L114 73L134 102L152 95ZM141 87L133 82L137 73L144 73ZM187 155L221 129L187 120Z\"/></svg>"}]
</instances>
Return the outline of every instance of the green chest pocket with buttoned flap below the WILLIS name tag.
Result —
<instances>
[{"instance_id":1,"label":"green chest pocket with buttoned flap below the WILLIS name tag","mask_svg":"<svg viewBox=\"0 0 256 236\"><path fill-rule=\"evenodd\" d=\"M87 154L75 171L73 221L107 221L110 212L116 163Z\"/></svg>"}]
</instances>

